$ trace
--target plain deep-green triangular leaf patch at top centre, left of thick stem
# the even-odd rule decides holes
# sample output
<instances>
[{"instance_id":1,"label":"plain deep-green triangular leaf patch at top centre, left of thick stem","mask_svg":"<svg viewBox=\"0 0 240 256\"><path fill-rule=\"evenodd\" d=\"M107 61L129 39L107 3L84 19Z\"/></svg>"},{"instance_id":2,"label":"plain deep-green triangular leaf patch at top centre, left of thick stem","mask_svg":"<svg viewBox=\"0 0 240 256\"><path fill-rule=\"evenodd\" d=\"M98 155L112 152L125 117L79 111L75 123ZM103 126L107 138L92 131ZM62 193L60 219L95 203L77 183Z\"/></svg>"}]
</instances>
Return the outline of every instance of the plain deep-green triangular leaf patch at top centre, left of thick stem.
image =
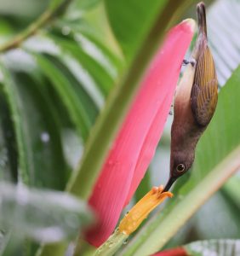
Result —
<instances>
[{"instance_id":1,"label":"plain deep-green triangular leaf patch at top centre, left of thick stem","mask_svg":"<svg viewBox=\"0 0 240 256\"><path fill-rule=\"evenodd\" d=\"M128 60L136 54L146 38L156 16L163 12L168 1L158 0L106 0L106 12L117 38ZM123 15L124 14L124 15Z\"/></svg>"}]
</instances>

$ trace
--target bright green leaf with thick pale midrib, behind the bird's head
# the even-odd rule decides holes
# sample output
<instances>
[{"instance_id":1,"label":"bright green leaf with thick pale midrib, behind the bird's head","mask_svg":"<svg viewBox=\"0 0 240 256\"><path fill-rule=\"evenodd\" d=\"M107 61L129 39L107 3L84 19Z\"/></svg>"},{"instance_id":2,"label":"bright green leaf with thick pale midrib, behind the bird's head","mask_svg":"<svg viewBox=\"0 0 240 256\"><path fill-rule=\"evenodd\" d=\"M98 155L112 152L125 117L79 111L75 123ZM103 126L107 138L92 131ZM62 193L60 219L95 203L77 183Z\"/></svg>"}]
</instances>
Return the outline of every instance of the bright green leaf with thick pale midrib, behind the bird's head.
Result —
<instances>
[{"instance_id":1,"label":"bright green leaf with thick pale midrib, behind the bird's head","mask_svg":"<svg viewBox=\"0 0 240 256\"><path fill-rule=\"evenodd\" d=\"M220 90L214 118L197 144L191 175L177 182L174 198L140 230L121 255L157 252L240 167L240 117L235 113L240 108L239 83L240 67Z\"/></svg>"}]
</instances>

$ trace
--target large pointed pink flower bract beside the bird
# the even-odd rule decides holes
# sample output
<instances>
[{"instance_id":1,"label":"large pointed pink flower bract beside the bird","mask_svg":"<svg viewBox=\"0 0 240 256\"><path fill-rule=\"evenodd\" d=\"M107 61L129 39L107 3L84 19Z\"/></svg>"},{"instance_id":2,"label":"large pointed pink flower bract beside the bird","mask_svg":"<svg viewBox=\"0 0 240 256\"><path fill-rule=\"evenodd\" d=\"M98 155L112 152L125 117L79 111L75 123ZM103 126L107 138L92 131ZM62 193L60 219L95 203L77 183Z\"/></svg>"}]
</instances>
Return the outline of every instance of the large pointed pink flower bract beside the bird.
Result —
<instances>
[{"instance_id":1,"label":"large pointed pink flower bract beside the bird","mask_svg":"<svg viewBox=\"0 0 240 256\"><path fill-rule=\"evenodd\" d=\"M111 235L123 207L134 195L151 162L163 133L194 26L194 20L188 19L169 31L112 144L89 198L89 205L98 213L99 220L85 238L95 247Z\"/></svg>"}]
</instances>

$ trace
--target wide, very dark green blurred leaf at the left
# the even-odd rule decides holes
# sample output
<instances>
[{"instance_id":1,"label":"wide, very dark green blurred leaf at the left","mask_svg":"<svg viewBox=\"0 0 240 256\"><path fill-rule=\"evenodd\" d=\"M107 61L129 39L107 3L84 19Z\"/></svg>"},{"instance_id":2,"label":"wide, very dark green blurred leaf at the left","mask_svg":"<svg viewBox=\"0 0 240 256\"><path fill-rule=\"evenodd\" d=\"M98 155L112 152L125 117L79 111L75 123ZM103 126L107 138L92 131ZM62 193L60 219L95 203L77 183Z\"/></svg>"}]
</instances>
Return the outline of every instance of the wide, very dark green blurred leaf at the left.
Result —
<instances>
[{"instance_id":1,"label":"wide, very dark green blurred leaf at the left","mask_svg":"<svg viewBox=\"0 0 240 256\"><path fill-rule=\"evenodd\" d=\"M18 177L31 186L64 189L68 172L48 91L26 73L3 71L18 148Z\"/></svg>"}]
</instances>

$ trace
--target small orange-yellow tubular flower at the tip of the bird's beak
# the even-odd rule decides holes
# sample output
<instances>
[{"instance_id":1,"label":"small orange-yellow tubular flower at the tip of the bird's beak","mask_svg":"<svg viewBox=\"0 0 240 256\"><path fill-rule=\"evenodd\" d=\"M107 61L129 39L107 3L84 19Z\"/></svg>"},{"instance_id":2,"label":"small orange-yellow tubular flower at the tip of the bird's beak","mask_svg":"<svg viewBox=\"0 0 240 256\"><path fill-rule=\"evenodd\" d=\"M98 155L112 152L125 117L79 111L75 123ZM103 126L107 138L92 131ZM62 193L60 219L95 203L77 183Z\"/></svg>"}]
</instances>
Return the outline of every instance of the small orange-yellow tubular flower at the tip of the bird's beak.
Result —
<instances>
[{"instance_id":1,"label":"small orange-yellow tubular flower at the tip of the bird's beak","mask_svg":"<svg viewBox=\"0 0 240 256\"><path fill-rule=\"evenodd\" d=\"M148 214L162 203L167 197L172 197L171 192L163 192L163 186L153 187L134 207L124 216L119 224L119 231L130 235L136 230Z\"/></svg>"}]
</instances>

